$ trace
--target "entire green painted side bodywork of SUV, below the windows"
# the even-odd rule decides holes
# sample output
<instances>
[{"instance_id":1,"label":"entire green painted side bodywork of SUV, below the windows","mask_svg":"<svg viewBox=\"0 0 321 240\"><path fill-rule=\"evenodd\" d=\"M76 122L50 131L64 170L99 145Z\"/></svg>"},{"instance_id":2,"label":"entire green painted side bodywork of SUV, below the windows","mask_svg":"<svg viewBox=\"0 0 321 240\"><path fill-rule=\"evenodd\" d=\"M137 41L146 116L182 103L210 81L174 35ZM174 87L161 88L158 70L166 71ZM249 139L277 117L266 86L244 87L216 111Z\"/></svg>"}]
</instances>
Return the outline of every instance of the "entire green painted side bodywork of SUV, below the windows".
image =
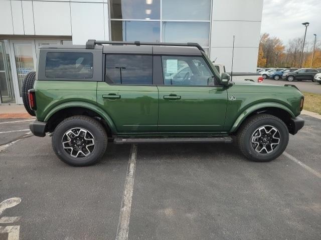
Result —
<instances>
[{"instance_id":1,"label":"entire green painted side bodywork of SUV, below the windows","mask_svg":"<svg viewBox=\"0 0 321 240\"><path fill-rule=\"evenodd\" d=\"M300 114L302 94L296 88L244 82L156 86L37 80L36 116L39 121L48 121L61 109L85 107L104 118L114 134L191 136L233 132L260 108L277 107L292 117ZM180 99L164 99L173 95ZM235 99L230 100L231 96Z\"/></svg>"}]
</instances>

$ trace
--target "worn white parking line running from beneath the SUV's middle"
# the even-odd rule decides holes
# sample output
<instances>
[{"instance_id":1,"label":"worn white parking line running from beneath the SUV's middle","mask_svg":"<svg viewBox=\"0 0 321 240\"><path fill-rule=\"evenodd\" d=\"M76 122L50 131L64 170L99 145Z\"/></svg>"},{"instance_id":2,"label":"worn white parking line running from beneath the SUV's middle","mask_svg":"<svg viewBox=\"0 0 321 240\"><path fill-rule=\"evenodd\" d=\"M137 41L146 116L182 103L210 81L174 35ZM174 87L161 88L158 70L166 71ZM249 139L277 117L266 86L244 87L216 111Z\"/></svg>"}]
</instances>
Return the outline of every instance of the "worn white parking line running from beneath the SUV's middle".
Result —
<instances>
[{"instance_id":1,"label":"worn white parking line running from beneath the SUV's middle","mask_svg":"<svg viewBox=\"0 0 321 240\"><path fill-rule=\"evenodd\" d=\"M137 145L131 145L130 156L128 160L127 173L124 184L124 192L121 200L119 221L117 226L116 240L128 239L129 217L131 208L132 191L134 186L135 168L136 168Z\"/></svg>"}]
</instances>

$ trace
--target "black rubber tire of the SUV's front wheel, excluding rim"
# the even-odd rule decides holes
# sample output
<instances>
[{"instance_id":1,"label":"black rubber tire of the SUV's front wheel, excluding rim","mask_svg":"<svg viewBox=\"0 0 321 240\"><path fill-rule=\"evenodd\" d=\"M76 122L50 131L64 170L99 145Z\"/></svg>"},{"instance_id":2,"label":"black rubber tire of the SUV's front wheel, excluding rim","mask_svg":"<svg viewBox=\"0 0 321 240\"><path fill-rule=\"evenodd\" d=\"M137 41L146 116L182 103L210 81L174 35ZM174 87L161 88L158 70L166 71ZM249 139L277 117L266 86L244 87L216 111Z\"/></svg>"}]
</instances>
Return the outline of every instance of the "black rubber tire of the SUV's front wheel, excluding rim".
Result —
<instances>
[{"instance_id":1,"label":"black rubber tire of the SUV's front wheel, excluding rim","mask_svg":"<svg viewBox=\"0 0 321 240\"><path fill-rule=\"evenodd\" d=\"M279 143L273 148L270 148L272 150L271 152L267 152L267 145L266 148L262 150L262 153L257 152L255 149L258 148L257 146L259 144L264 144L265 143L252 143L252 137L257 132L258 128L260 127L274 127L277 131L278 134L276 135L273 134L272 138L279 136ZM271 129L270 128L270 129ZM275 132L274 130L270 132ZM262 134L263 135L263 134ZM255 135L254 135L255 137ZM264 135L262 136L264 137ZM269 141L267 138L271 138L270 136L264 137L265 141ZM259 141L259 137L255 138L257 141ZM283 151L285 150L287 143L289 141L289 131L287 129L287 126L285 123L278 117L270 115L270 114L257 114L249 117L246 119L242 125L240 126L238 132L237 132L237 143L239 146L240 151L246 156L248 159L252 161L271 161L281 155ZM273 144L274 146L275 144ZM271 146L271 145L270 145ZM255 148L254 148L255 147ZM259 147L261 148L261 147ZM263 147L262 147L263 148ZM259 149L258 149L259 150Z\"/></svg>"}]
</instances>

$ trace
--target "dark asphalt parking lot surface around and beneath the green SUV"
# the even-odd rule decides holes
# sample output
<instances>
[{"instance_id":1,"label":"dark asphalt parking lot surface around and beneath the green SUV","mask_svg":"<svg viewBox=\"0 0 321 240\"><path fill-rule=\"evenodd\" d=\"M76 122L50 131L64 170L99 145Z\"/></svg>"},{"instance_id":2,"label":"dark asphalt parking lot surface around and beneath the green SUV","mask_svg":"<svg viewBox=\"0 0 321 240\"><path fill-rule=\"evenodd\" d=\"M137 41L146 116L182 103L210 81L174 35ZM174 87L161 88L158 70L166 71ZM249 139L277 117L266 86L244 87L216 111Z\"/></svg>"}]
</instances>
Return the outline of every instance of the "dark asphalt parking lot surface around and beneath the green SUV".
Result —
<instances>
[{"instance_id":1,"label":"dark asphalt parking lot surface around and beneath the green SUV","mask_svg":"<svg viewBox=\"0 0 321 240\"><path fill-rule=\"evenodd\" d=\"M321 120L303 118L286 153L266 163L234 143L138 144L128 239L320 239ZM20 226L19 239L115 239L131 146L109 143L99 163L72 167L49 136L27 136L0 152L0 202L21 198L0 214L0 229Z\"/></svg>"}]
</instances>

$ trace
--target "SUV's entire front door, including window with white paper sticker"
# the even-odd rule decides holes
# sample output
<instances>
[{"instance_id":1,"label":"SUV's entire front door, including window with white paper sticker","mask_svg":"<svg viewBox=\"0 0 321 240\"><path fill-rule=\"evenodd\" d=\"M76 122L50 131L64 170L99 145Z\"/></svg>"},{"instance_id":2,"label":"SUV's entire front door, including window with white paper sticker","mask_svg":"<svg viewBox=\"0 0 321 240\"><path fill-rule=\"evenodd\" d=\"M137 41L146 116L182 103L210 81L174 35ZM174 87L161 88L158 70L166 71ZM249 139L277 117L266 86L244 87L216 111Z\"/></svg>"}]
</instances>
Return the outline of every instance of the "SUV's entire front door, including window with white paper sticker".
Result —
<instances>
[{"instance_id":1,"label":"SUV's entire front door, including window with white paper sticker","mask_svg":"<svg viewBox=\"0 0 321 240\"><path fill-rule=\"evenodd\" d=\"M164 85L159 91L159 132L219 132L223 129L227 90L213 79L201 56L162 56ZM169 79L190 69L182 79Z\"/></svg>"}]
</instances>

